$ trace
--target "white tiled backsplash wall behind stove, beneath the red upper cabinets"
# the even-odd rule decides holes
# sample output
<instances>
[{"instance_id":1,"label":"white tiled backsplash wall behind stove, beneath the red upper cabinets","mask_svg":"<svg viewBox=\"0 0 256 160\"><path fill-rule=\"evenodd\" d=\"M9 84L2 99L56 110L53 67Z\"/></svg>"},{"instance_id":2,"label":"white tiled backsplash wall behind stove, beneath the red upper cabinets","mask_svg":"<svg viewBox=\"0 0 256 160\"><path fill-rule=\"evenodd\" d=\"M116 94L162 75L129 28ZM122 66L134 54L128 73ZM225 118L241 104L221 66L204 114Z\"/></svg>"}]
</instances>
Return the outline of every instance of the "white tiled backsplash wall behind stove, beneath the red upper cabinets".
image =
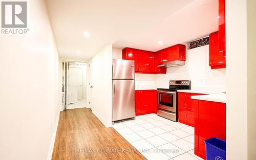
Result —
<instances>
[{"instance_id":1,"label":"white tiled backsplash wall behind stove, beneath the red upper cabinets","mask_svg":"<svg viewBox=\"0 0 256 160\"><path fill-rule=\"evenodd\" d=\"M168 87L169 80L191 80L191 89L225 92L226 70L211 70L209 45L186 51L184 66L168 67L166 74L156 75L156 87Z\"/></svg>"}]
</instances>

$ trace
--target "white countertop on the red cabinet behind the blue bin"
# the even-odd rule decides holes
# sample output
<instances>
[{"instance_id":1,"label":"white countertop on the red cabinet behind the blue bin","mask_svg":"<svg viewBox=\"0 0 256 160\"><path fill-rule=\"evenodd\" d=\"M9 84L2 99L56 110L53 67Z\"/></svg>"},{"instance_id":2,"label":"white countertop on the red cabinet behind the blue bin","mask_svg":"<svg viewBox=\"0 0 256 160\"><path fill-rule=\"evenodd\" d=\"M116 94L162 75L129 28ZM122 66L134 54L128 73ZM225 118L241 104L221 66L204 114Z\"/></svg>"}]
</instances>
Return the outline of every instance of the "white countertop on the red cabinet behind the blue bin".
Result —
<instances>
[{"instance_id":1,"label":"white countertop on the red cabinet behind the blue bin","mask_svg":"<svg viewBox=\"0 0 256 160\"><path fill-rule=\"evenodd\" d=\"M226 94L219 93L219 94L191 96L191 99L226 103Z\"/></svg>"}]
</instances>

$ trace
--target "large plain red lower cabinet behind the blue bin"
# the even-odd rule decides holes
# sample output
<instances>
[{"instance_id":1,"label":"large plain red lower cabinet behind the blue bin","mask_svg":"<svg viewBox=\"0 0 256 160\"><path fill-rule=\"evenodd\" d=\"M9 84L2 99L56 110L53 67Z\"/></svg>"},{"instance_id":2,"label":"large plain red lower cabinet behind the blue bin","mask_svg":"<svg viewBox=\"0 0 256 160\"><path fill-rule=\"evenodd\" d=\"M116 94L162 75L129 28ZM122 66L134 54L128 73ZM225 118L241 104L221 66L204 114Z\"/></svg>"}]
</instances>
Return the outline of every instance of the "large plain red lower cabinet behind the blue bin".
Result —
<instances>
[{"instance_id":1,"label":"large plain red lower cabinet behind the blue bin","mask_svg":"<svg viewBox=\"0 0 256 160\"><path fill-rule=\"evenodd\" d=\"M198 100L195 108L195 154L205 159L204 140L226 140L226 104Z\"/></svg>"}]
</instances>

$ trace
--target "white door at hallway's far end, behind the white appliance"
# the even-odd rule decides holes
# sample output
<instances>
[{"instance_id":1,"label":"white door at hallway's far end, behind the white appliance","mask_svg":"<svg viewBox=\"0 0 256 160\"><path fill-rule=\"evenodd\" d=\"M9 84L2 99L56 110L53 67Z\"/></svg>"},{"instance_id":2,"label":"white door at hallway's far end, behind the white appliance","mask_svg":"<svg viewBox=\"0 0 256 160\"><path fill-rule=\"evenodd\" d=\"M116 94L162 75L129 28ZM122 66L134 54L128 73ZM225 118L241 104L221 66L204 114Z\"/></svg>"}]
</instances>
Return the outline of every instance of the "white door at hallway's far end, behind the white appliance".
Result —
<instances>
[{"instance_id":1,"label":"white door at hallway's far end, behind the white appliance","mask_svg":"<svg viewBox=\"0 0 256 160\"><path fill-rule=\"evenodd\" d=\"M77 99L82 99L82 68L69 68L69 86L77 86Z\"/></svg>"}]
</instances>

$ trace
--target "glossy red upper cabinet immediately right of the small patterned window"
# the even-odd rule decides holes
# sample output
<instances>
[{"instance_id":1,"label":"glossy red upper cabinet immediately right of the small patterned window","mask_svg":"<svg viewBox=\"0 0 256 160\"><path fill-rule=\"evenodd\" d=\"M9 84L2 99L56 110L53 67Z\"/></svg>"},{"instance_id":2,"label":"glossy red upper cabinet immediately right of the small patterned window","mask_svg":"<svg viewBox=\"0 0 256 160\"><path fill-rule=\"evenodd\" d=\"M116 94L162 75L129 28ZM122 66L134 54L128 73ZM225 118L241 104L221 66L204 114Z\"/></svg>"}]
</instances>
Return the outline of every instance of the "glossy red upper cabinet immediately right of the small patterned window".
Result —
<instances>
[{"instance_id":1,"label":"glossy red upper cabinet immediately right of the small patterned window","mask_svg":"<svg viewBox=\"0 0 256 160\"><path fill-rule=\"evenodd\" d=\"M211 69L226 67L226 58L219 51L219 32L209 35L209 65Z\"/></svg>"}]
</instances>

